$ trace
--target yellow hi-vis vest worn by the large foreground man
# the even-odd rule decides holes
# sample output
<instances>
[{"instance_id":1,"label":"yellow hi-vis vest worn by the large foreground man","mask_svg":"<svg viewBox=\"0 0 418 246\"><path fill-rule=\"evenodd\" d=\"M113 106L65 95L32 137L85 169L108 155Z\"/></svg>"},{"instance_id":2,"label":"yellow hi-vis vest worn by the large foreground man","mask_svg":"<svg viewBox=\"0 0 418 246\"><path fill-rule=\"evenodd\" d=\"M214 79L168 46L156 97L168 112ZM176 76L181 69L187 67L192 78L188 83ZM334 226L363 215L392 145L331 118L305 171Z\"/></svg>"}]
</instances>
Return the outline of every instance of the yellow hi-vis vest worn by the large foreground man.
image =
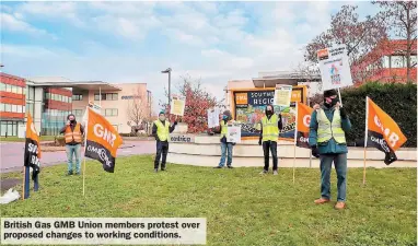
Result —
<instances>
[{"instance_id":1,"label":"yellow hi-vis vest worn by the large foreground man","mask_svg":"<svg viewBox=\"0 0 418 246\"><path fill-rule=\"evenodd\" d=\"M333 116L333 122L326 117L324 109L318 109L316 115L317 127L317 142L324 143L332 138L337 143L346 143L346 134L341 128L341 115L336 109Z\"/></svg>"}]
</instances>

